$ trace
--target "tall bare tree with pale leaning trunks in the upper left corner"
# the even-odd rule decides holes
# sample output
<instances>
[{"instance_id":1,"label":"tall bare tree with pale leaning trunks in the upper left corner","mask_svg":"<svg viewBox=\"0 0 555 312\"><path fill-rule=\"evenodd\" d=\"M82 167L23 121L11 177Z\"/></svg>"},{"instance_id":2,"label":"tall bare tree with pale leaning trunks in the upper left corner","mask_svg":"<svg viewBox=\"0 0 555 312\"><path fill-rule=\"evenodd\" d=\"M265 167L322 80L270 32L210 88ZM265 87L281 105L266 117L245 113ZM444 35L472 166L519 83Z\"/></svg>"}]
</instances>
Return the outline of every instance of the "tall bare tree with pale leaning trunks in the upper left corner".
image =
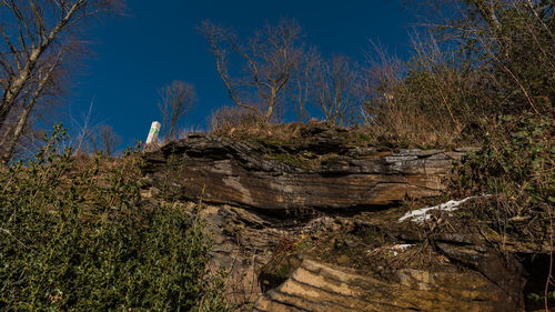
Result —
<instances>
[{"instance_id":1,"label":"tall bare tree with pale leaning trunks in the upper left corner","mask_svg":"<svg viewBox=\"0 0 555 312\"><path fill-rule=\"evenodd\" d=\"M29 117L50 90L78 46L87 18L113 8L109 0L0 1L0 161L17 145Z\"/></svg>"}]
</instances>

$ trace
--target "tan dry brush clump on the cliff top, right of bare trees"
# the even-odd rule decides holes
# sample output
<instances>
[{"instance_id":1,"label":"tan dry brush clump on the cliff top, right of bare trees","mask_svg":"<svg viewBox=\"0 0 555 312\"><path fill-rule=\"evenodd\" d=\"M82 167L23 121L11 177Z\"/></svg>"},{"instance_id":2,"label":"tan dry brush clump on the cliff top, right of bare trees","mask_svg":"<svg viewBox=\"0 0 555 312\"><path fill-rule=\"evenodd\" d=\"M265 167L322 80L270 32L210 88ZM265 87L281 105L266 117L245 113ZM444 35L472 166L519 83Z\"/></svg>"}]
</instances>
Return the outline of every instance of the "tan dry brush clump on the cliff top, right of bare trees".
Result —
<instances>
[{"instance_id":1,"label":"tan dry brush clump on the cliff top, right of bare trees","mask_svg":"<svg viewBox=\"0 0 555 312\"><path fill-rule=\"evenodd\" d=\"M490 99L481 73L455 62L433 39L413 40L415 57L403 62L374 46L366 72L366 127L375 137L412 145L461 144L462 133L484 115Z\"/></svg>"}]
</instances>

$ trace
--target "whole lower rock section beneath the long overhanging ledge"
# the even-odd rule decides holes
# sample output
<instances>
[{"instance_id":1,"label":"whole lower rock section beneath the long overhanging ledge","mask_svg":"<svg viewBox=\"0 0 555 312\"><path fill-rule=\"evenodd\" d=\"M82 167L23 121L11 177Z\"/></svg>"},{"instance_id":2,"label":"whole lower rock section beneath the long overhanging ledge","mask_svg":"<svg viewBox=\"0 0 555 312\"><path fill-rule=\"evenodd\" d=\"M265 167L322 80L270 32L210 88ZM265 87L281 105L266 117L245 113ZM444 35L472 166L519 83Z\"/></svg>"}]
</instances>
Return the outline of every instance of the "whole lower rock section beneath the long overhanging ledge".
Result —
<instances>
[{"instance_id":1,"label":"whole lower rock section beneath the long overhanging ledge","mask_svg":"<svg viewBox=\"0 0 555 312\"><path fill-rule=\"evenodd\" d=\"M422 235L420 230L434 221L398 223L400 209L352 217L320 214L297 223L230 205L205 205L202 213L205 231L216 243L211 268L229 273L226 295L241 311L522 311L524 306L523 266L514 254L492 246L497 243L490 241L493 235L441 231ZM369 231L382 233L369 235Z\"/></svg>"}]
</instances>

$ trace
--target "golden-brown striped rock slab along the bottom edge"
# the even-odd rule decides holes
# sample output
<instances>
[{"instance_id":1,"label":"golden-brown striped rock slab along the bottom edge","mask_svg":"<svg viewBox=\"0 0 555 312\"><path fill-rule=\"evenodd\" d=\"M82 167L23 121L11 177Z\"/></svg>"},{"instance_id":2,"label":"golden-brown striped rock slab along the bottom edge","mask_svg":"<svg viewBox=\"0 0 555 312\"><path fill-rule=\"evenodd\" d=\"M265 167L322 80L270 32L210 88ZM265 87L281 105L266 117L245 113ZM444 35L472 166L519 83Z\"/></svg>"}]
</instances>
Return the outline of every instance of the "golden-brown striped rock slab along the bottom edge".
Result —
<instances>
[{"instance_id":1,"label":"golden-brown striped rock slab along the bottom edge","mask_svg":"<svg viewBox=\"0 0 555 312\"><path fill-rule=\"evenodd\" d=\"M347 268L304 260L253 311L517 311L512 299L477 272L398 270L374 279Z\"/></svg>"}]
</instances>

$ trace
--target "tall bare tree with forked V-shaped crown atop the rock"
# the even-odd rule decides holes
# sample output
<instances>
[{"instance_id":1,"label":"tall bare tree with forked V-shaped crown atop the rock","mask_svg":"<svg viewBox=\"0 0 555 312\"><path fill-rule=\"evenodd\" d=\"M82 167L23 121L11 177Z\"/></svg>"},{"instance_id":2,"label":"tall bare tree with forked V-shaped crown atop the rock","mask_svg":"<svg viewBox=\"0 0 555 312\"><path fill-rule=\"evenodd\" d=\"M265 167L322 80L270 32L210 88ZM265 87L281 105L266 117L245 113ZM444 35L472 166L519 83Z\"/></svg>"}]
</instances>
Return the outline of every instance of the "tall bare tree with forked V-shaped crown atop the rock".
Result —
<instances>
[{"instance_id":1,"label":"tall bare tree with forked V-shaped crown atop the rock","mask_svg":"<svg viewBox=\"0 0 555 312\"><path fill-rule=\"evenodd\" d=\"M230 29L204 21L200 28L215 57L216 69L230 98L241 108L252 110L269 121L294 67L301 28L295 21L282 20L278 26L266 24L243 46ZM228 68L232 51L245 63L245 74L233 79ZM254 95L249 99L249 95Z\"/></svg>"}]
</instances>

